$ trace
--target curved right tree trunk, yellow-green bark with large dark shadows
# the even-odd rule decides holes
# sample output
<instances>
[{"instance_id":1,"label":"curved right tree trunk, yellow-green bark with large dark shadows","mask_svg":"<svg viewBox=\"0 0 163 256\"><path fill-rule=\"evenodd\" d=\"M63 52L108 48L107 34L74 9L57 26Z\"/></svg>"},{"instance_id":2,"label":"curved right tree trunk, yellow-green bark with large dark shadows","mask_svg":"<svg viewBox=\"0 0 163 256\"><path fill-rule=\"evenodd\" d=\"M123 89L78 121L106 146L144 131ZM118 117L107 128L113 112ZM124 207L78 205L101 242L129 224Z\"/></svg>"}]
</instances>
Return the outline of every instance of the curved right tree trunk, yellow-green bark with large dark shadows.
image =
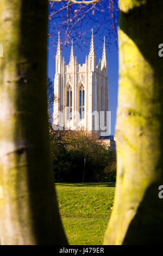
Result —
<instances>
[{"instance_id":1,"label":"curved right tree trunk, yellow-green bark with large dark shadows","mask_svg":"<svg viewBox=\"0 0 163 256\"><path fill-rule=\"evenodd\" d=\"M163 1L120 0L117 183L105 245L163 243Z\"/></svg>"}]
</instances>

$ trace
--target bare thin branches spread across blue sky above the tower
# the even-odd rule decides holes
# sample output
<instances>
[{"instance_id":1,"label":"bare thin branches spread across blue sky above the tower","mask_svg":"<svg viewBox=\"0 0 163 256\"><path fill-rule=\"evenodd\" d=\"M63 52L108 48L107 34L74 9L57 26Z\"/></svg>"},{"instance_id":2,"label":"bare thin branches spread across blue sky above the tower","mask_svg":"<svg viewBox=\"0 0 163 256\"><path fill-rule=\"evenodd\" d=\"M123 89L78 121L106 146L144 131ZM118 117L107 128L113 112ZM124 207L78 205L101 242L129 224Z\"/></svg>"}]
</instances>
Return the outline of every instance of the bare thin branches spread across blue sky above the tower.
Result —
<instances>
[{"instance_id":1,"label":"bare thin branches spread across blue sky above the tower","mask_svg":"<svg viewBox=\"0 0 163 256\"><path fill-rule=\"evenodd\" d=\"M117 20L118 6L117 0L52 0L49 1L49 36L57 36L58 31L65 33L65 40L62 47L70 44L71 39L75 39L76 44L85 45L87 38L87 23L94 29L94 34L100 33L102 36L107 30L106 42L117 44ZM53 21L53 22L52 22Z\"/></svg>"}]
</instances>

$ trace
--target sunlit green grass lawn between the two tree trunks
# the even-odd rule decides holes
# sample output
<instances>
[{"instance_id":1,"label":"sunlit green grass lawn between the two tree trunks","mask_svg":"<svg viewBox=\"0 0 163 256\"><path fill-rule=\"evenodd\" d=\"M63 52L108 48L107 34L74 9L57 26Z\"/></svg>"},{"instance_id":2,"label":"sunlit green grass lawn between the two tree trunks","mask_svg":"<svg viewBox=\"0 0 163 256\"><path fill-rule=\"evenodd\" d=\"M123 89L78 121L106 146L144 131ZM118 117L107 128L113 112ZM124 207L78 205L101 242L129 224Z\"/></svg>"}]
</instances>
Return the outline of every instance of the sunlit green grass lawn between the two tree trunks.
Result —
<instances>
[{"instance_id":1,"label":"sunlit green grass lawn between the two tree trunks","mask_svg":"<svg viewBox=\"0 0 163 256\"><path fill-rule=\"evenodd\" d=\"M115 183L57 183L62 223L70 245L102 245Z\"/></svg>"}]
</instances>

